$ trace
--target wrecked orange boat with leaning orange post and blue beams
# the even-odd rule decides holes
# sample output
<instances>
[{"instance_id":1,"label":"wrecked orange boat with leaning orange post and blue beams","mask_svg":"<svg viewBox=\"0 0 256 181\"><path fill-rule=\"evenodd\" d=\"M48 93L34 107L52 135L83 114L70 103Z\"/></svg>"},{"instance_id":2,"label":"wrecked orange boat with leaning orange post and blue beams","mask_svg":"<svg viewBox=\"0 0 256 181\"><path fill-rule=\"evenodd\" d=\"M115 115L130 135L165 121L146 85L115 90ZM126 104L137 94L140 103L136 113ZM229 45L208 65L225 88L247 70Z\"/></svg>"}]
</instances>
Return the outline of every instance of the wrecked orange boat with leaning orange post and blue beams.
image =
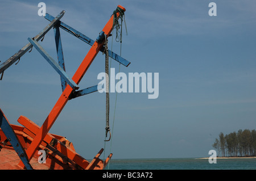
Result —
<instances>
[{"instance_id":1,"label":"wrecked orange boat with leaning orange post and blue beams","mask_svg":"<svg viewBox=\"0 0 256 181\"><path fill-rule=\"evenodd\" d=\"M100 159L100 155L104 149L100 149L92 161L89 162L76 152L72 142L68 141L63 136L49 133L49 130L55 123L57 117L63 110L65 104L67 104L68 100L78 98L79 96L96 92L98 90L98 85L88 87L86 89L80 89L79 87L79 82L86 73L86 70L88 70L90 64L92 64L92 61L97 56L98 52L105 53L106 60L108 60L108 57L111 57L115 61L119 62L119 64L126 67L129 66L129 61L110 51L107 46L107 39L109 36L111 36L110 33L113 31L115 26L119 26L118 19L122 20L122 16L124 15L125 11L126 10L124 7L120 5L117 6L117 9L113 12L113 15L99 33L96 41L61 22L60 19L63 17L65 11L61 11L60 14L55 18L49 14L46 14L44 18L49 20L50 23L35 37L28 37L28 43L22 49L16 52L14 56L10 57L0 65L0 74L2 80L4 71L6 71L6 69L13 65L16 61L19 61L23 54L29 50L31 51L34 47L47 60L52 68L59 73L62 87L60 98L57 100L55 106L53 106L51 112L41 127L23 115L18 119L18 123L21 125L10 124L6 115L0 108L0 169L105 169L106 165L108 165L110 159L112 158L112 153L110 153L105 161L103 161ZM55 33L57 61L49 56L46 50L44 50L38 42L39 40L43 40L46 33L52 28ZM72 78L69 77L69 75L65 72L63 49L61 47L60 39L60 28L92 46ZM108 123L107 120L106 123ZM109 125L106 124L106 136L108 133L109 136L111 136Z\"/></svg>"}]
</instances>

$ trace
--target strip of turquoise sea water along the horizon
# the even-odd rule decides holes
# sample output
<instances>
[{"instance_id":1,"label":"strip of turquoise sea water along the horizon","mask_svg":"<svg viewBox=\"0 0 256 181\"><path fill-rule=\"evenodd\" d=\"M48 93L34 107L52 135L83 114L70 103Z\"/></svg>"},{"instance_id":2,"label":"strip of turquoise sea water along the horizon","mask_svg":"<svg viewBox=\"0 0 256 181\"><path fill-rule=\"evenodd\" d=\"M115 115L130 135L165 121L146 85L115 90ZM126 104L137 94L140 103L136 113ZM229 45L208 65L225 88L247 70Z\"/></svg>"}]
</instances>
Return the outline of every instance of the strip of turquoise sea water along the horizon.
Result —
<instances>
[{"instance_id":1,"label":"strip of turquoise sea water along the horizon","mask_svg":"<svg viewBox=\"0 0 256 181\"><path fill-rule=\"evenodd\" d=\"M105 170L255 170L256 158L217 159L112 159Z\"/></svg>"}]
</instances>

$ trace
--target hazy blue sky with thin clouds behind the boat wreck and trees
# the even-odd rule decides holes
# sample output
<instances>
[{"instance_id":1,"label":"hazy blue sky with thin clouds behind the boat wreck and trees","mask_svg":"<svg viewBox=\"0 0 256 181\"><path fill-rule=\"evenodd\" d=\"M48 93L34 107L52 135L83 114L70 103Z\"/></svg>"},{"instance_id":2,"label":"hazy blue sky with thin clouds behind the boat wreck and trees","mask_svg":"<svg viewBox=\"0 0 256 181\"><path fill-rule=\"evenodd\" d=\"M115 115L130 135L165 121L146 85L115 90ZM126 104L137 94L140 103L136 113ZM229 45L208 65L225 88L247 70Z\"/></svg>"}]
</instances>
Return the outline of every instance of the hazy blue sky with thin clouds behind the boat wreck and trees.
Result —
<instances>
[{"instance_id":1,"label":"hazy blue sky with thin clouds behind the boat wreck and trees","mask_svg":"<svg viewBox=\"0 0 256 181\"><path fill-rule=\"evenodd\" d=\"M13 56L49 23L38 16L38 3L69 26L96 39L117 5L126 8L128 35L122 57L124 73L159 73L159 97L121 93L117 97L113 158L209 157L220 132L255 129L255 1L2 1L0 60ZM209 16L210 2L217 16ZM72 77L90 46L61 30L64 60ZM109 39L109 43L111 39ZM53 30L40 44L56 60ZM120 45L114 41L113 51ZM119 64L112 61L118 71ZM105 71L99 53L80 82L97 85ZM42 125L61 95L59 75L33 49L5 71L0 107L11 124L24 115ZM115 94L110 94L110 127ZM105 95L99 92L70 100L50 133L65 136L77 153L93 158L104 147ZM110 142L106 145L106 155Z\"/></svg>"}]
</instances>

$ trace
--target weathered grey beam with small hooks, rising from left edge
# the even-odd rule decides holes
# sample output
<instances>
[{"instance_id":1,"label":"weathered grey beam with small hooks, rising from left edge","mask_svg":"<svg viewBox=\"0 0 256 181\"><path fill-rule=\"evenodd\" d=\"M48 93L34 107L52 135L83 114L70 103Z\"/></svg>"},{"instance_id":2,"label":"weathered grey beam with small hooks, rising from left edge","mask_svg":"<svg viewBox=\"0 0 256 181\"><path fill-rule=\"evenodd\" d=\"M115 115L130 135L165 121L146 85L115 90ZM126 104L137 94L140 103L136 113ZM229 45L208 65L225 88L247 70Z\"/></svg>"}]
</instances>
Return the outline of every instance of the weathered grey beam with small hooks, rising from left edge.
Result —
<instances>
[{"instance_id":1,"label":"weathered grey beam with small hooks, rising from left edge","mask_svg":"<svg viewBox=\"0 0 256 181\"><path fill-rule=\"evenodd\" d=\"M56 18L53 17L51 20L51 23L49 23L38 35L34 37L36 41L39 41L42 39L46 33L51 30L51 28L62 18L64 15L65 11L61 11L59 15L56 16ZM22 49L20 49L18 52L16 52L13 56L11 56L8 60L3 62L0 65L0 74L3 73L6 69L8 69L11 65L14 64L17 60L19 60L20 57L23 56L28 50L30 50L32 47L31 43L26 44Z\"/></svg>"}]
</instances>

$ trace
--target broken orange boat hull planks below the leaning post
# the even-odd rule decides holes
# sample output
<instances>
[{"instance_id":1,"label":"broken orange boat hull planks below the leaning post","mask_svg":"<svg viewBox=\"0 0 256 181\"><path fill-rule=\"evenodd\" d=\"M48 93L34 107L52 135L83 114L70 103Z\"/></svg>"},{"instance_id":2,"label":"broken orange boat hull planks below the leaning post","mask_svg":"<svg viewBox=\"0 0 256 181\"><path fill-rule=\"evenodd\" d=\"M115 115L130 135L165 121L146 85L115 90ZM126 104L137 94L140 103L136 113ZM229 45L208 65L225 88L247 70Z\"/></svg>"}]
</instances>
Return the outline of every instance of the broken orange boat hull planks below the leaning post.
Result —
<instances>
[{"instance_id":1,"label":"broken orange boat hull planks below the leaning post","mask_svg":"<svg viewBox=\"0 0 256 181\"><path fill-rule=\"evenodd\" d=\"M23 124L24 127L18 125L11 125L13 127L16 136L18 137L20 143L23 148L26 150L31 142L34 140L36 132L40 129L38 125L34 124L32 121L27 119L24 116L20 116L19 123ZM54 136L53 136L54 135ZM60 140L59 140L60 138ZM55 140L50 141L50 140ZM0 129L0 145L3 147L0 151L0 170L20 170L24 169L18 165L20 159L13 149L10 142L6 142L3 145L3 142L6 140L5 134L3 134ZM62 136L58 136L55 134L47 134L46 138L39 145L38 150L47 151L47 159L46 164L40 164L38 162L39 155L35 154L30 163L33 169L54 169L54 170L63 170L63 169L71 169L71 170L85 170L85 169L93 169L99 170L104 169L108 164L109 158L112 157L112 154L104 161L102 161L99 157L102 153L103 149L94 157L92 162L86 161L86 159L82 158L79 154L76 153L72 143L66 140Z\"/></svg>"}]
</instances>

